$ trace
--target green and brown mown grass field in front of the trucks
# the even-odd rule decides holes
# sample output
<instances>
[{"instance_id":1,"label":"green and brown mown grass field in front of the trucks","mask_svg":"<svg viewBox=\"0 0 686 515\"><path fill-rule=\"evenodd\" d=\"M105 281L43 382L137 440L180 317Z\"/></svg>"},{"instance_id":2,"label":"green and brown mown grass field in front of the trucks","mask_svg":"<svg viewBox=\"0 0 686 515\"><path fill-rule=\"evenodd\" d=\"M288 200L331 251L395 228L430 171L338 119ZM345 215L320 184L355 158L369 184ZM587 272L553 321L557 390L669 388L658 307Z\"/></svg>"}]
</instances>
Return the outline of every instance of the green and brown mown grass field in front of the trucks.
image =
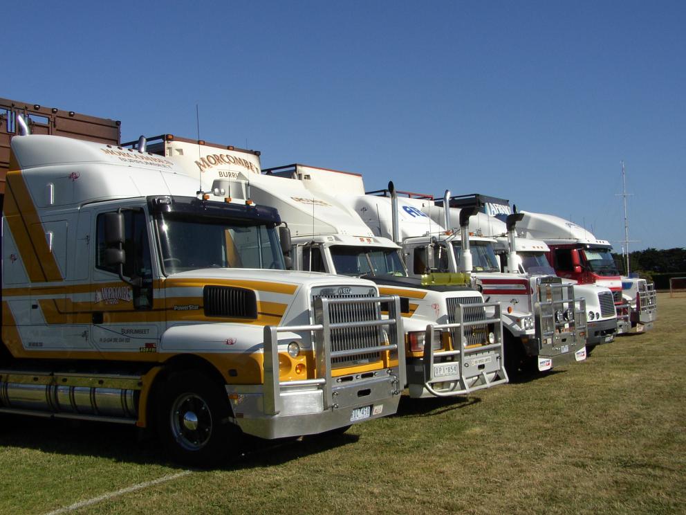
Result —
<instances>
[{"instance_id":1,"label":"green and brown mown grass field in front of the trucks","mask_svg":"<svg viewBox=\"0 0 686 515\"><path fill-rule=\"evenodd\" d=\"M1 416L0 513L685 513L685 311L661 293L584 363L176 478L133 428Z\"/></svg>"}]
</instances>

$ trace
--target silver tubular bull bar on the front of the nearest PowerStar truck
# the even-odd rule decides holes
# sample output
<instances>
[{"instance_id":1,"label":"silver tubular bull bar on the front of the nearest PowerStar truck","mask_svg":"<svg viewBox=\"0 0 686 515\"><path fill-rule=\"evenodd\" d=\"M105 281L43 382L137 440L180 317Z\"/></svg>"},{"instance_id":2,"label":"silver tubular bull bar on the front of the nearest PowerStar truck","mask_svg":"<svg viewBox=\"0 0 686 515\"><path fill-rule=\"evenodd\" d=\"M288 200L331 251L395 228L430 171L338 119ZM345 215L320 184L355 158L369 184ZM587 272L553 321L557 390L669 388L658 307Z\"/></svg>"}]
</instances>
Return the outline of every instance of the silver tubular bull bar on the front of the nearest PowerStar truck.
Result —
<instances>
[{"instance_id":1,"label":"silver tubular bull bar on the front of the nearest PowerStar truck","mask_svg":"<svg viewBox=\"0 0 686 515\"><path fill-rule=\"evenodd\" d=\"M343 323L331 322L332 305L360 305L384 303L384 310L388 309L388 318L376 320L358 320ZM281 412L281 389L288 387L315 387L322 390L324 410L335 408L333 400L333 382L331 375L332 360L339 357L351 356L361 353L389 352L389 361L398 360L397 379L398 392L400 395L402 386L407 382L405 372L404 332L400 318L400 297L354 297L354 298L317 298L314 302L315 323L309 325L266 325L264 327L264 383L263 383L263 410L266 415L277 415ZM378 309L380 313L380 309ZM353 350L331 350L331 332L335 329L354 329L378 327L380 341L378 345L355 348ZM381 329L387 327L387 331ZM315 379L302 379L299 381L281 381L279 377L279 332L311 332L315 351ZM388 336L386 341L385 336ZM353 365L354 366L354 365ZM391 368L388 368L389 373ZM364 379L362 380L364 381ZM360 381L359 384L363 384Z\"/></svg>"}]
</instances>

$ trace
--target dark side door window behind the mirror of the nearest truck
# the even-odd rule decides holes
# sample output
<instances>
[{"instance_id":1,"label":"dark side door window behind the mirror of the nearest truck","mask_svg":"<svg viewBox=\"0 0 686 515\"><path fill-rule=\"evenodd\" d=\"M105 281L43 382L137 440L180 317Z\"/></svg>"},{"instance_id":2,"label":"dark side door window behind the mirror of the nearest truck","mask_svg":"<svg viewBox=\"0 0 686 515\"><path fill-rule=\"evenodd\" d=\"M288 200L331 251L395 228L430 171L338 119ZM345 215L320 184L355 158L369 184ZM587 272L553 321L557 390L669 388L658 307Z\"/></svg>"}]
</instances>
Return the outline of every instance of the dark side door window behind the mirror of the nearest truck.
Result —
<instances>
[{"instance_id":1,"label":"dark side door window behind the mirror of the nearest truck","mask_svg":"<svg viewBox=\"0 0 686 515\"><path fill-rule=\"evenodd\" d=\"M127 260L124 264L124 277L128 278L152 278L152 265L150 260L150 245L148 242L147 224L145 213L142 210L125 210L124 212L124 251ZM97 254L95 255L95 267L111 273L119 273L115 266L104 264L104 251L106 243L104 238L104 213L98 215L98 228L96 229Z\"/></svg>"}]
</instances>

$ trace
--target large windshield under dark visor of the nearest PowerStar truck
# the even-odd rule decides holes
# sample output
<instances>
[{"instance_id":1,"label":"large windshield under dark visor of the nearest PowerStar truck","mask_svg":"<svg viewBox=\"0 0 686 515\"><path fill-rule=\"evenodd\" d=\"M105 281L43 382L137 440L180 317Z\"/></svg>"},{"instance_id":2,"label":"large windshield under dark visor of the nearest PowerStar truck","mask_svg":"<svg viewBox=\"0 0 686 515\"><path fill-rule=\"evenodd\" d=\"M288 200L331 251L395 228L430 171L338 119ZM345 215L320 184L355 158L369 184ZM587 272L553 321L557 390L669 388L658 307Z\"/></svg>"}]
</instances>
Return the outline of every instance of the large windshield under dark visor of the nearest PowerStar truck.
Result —
<instances>
[{"instance_id":1,"label":"large windshield under dark visor of the nearest PowerStar truck","mask_svg":"<svg viewBox=\"0 0 686 515\"><path fill-rule=\"evenodd\" d=\"M218 218L156 217L165 273L203 268L284 270L274 226Z\"/></svg>"}]
</instances>

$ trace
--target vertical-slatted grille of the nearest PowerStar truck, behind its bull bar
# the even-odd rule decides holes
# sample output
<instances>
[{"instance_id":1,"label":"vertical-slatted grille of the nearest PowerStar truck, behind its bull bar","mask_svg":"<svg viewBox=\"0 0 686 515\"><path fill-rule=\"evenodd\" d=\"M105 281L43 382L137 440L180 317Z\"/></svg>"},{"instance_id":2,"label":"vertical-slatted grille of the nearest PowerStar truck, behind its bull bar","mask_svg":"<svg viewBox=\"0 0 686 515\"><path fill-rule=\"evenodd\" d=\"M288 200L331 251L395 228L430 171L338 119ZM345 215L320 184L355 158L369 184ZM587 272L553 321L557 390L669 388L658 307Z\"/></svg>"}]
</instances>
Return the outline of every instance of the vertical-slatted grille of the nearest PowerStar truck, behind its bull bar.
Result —
<instances>
[{"instance_id":1,"label":"vertical-slatted grille of the nearest PowerStar truck, behind its bull bar","mask_svg":"<svg viewBox=\"0 0 686 515\"><path fill-rule=\"evenodd\" d=\"M331 290L331 289L330 289ZM322 291L312 296L312 302L317 298L363 298L374 297L375 292L371 293L330 293ZM381 311L378 303L369 304L332 304L329 305L329 320L331 323L360 322L369 320L380 320ZM376 347L383 341L379 327L344 327L342 329L331 330L331 350L355 350L369 347ZM381 359L379 352L364 352L331 359L333 368L342 368L362 363L372 363Z\"/></svg>"}]
</instances>

